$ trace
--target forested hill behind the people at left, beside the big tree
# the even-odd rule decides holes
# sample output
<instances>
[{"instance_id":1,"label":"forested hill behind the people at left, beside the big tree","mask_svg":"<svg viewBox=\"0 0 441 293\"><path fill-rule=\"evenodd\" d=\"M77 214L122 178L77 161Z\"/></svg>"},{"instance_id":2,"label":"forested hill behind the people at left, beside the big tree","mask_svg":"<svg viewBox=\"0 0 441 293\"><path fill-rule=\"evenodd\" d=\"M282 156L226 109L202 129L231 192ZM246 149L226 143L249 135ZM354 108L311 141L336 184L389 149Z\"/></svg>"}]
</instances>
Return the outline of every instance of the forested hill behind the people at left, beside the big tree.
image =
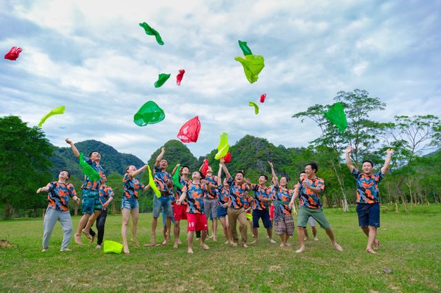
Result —
<instances>
[{"instance_id":1,"label":"forested hill behind the people at left, beside the big tree","mask_svg":"<svg viewBox=\"0 0 441 293\"><path fill-rule=\"evenodd\" d=\"M76 142L76 148L83 153L85 157L89 155L91 151L98 151L101 154L101 164L103 165L105 173L119 173L123 174L127 165L132 164L137 167L143 166L143 161L137 158L135 155L127 153L119 153L112 146L99 142L96 140L85 140L83 142ZM52 153L52 173L58 175L61 169L68 169L71 175L75 177L82 177L81 169L78 160L75 158L70 146L68 147L55 147Z\"/></svg>"}]
</instances>

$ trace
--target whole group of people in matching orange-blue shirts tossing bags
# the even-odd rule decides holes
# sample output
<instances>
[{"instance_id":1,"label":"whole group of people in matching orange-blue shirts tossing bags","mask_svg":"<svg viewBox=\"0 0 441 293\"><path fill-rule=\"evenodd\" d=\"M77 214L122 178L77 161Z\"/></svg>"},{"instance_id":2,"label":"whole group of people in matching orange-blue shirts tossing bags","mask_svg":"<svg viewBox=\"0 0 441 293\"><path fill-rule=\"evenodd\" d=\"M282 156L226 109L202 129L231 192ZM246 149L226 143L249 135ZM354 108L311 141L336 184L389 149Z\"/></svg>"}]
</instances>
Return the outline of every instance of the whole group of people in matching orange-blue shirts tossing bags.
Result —
<instances>
[{"instance_id":1,"label":"whole group of people in matching orange-blue shirts tossing bags","mask_svg":"<svg viewBox=\"0 0 441 293\"><path fill-rule=\"evenodd\" d=\"M80 158L80 153L72 140L65 140L72 149L76 158ZM379 192L378 183L387 173L391 162L393 150L387 150L387 158L384 166L377 173L373 173L373 162L365 160L362 162L362 170L359 171L351 163L349 146L345 152L345 159L349 171L356 179L357 186L357 213L359 226L368 237L366 252L376 253L374 249L380 248L380 241L376 238L377 228L380 226L380 206L378 203ZM305 164L305 171L300 173L299 179L293 188L288 188L288 178L278 177L271 162L271 184L268 184L267 175L260 175L258 183L252 183L245 177L243 171L236 171L234 177L229 173L225 161L220 159L218 174L213 175L213 170L209 166L204 175L201 169L194 171L190 175L188 166L176 165L172 174L167 172L168 161L164 158L165 147L161 149L154 164L154 186L158 189L161 196L154 196L152 211L152 237L150 243L144 246L165 246L170 242L171 226L174 223L174 248L178 248L181 243L179 235L181 232L181 221L187 221L187 245L188 253L193 253L194 232L201 233L201 247L208 250L207 246L207 218L212 217L212 237L217 241L217 219L223 226L223 234L227 241L226 244L238 246L240 243L244 248L248 247L247 226L250 224L254 241L258 243L259 220L261 219L266 229L269 242L276 243L273 239L274 232L280 237L280 246L290 246L288 239L294 234L294 227L297 226L297 235L300 248L296 252L305 251L305 240L309 238L307 234L307 223L313 229L314 240L317 238L315 223L323 228L331 241L331 245L338 251L342 251L340 244L336 242L334 232L329 225L327 217L322 209L320 193L325 189L325 181L317 177L318 165L314 162ZM96 248L103 245L103 235L105 219L107 217L107 206L114 199L114 193L110 186L105 184L107 177L100 164L101 155L97 151L92 151L89 158L83 158L84 162L92 166L97 171L101 180L94 181L85 176L81 186L82 211L83 216L79 221L79 226L74 234L74 240L80 246L81 234L85 235L90 241L94 242L97 236ZM130 217L132 217L132 237L130 241L134 246L139 247L136 237L136 230L139 219L139 191L147 191L151 186L144 185L136 179L136 176L148 168L147 165L136 169L136 166L127 166L123 177L123 195L121 199L121 214L123 224L121 227L121 237L123 239L123 252L130 253L127 241L127 228ZM179 184L174 184L173 175L178 172ZM205 173L205 172L204 172ZM222 173L225 177L222 179ZM43 252L48 250L49 239L54 225L60 221L63 228L63 243L61 251L70 250L68 245L73 233L72 219L68 209L70 198L77 203L80 199L76 197L74 186L67 181L70 173L62 170L59 173L57 182L50 182L45 187L39 188L37 193L48 192L48 208L44 217L43 224ZM154 187L153 186L153 187ZM252 191L254 194L249 195ZM298 210L296 210L295 200L298 199ZM297 215L297 224L294 224L292 214ZM165 215L163 235L165 240L161 244L156 244L156 227L159 215ZM97 232L92 230L96 221ZM239 223L240 242L238 239L237 223Z\"/></svg>"}]
</instances>

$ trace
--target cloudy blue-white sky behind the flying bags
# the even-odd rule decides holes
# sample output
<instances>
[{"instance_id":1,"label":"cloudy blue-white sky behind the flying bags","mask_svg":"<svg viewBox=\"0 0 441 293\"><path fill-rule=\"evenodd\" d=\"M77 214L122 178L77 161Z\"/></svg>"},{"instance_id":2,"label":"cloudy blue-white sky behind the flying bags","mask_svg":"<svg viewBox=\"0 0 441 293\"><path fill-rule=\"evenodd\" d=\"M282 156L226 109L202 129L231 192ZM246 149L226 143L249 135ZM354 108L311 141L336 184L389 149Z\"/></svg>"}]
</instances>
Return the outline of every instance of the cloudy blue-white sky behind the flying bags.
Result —
<instances>
[{"instance_id":1,"label":"cloudy blue-white sky behind the flying bags","mask_svg":"<svg viewBox=\"0 0 441 293\"><path fill-rule=\"evenodd\" d=\"M441 116L440 11L433 0L0 0L0 50L23 48L17 61L0 61L0 116L35 126L64 105L42 126L52 144L100 140L143 161L194 116L201 133L187 146L196 157L222 132L229 144L251 134L307 146L320 129L291 116L333 103L338 91L365 89L386 102L371 115L382 122ZM256 83L234 61L243 55L238 40L265 58ZM172 76L155 88L160 73ZM165 120L139 127L134 113L149 100Z\"/></svg>"}]
</instances>

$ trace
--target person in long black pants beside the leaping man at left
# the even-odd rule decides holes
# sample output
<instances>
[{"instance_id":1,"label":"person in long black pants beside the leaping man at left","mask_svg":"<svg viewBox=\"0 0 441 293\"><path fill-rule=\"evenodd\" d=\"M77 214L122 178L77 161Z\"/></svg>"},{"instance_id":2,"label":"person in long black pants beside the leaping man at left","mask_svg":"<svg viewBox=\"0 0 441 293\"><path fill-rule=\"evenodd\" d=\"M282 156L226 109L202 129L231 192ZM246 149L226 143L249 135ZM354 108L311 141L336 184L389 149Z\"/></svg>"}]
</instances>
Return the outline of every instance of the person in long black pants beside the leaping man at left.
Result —
<instances>
[{"instance_id":1,"label":"person in long black pants beside the leaping man at left","mask_svg":"<svg viewBox=\"0 0 441 293\"><path fill-rule=\"evenodd\" d=\"M101 211L101 214L96 218L96 230L98 230L98 232L92 230L93 223L90 224L91 228L89 230L89 234L92 235L92 240L90 241L90 243L93 243L95 237L98 236L95 248L101 248L101 246L103 246L104 226L105 219L107 218L107 207L115 198L112 187L105 185L105 182L107 182L107 175L103 174L101 176L101 186L99 188L99 198L101 204L103 204L103 210ZM89 221L92 221L92 219L89 218Z\"/></svg>"}]
</instances>

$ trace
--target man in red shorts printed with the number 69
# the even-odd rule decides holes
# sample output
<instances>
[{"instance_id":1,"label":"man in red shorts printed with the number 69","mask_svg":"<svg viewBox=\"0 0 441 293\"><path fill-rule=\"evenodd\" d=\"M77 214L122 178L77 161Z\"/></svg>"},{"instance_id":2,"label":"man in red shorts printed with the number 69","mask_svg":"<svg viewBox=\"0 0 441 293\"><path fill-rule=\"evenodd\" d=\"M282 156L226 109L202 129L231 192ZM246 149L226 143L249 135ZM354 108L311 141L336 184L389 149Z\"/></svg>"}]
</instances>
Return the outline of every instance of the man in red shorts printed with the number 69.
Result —
<instances>
[{"instance_id":1,"label":"man in red shorts printed with the number 69","mask_svg":"<svg viewBox=\"0 0 441 293\"><path fill-rule=\"evenodd\" d=\"M182 195L176 201L176 204L181 205L182 202L187 200L187 243L188 253L193 253L193 237L194 231L200 230L201 233L201 246L204 250L208 250L209 247L205 244L207 238L207 217L204 214L203 198L205 193L208 192L209 186L205 180L202 179L202 174L199 171L194 171L192 174L192 182L186 182L182 188Z\"/></svg>"}]
</instances>

